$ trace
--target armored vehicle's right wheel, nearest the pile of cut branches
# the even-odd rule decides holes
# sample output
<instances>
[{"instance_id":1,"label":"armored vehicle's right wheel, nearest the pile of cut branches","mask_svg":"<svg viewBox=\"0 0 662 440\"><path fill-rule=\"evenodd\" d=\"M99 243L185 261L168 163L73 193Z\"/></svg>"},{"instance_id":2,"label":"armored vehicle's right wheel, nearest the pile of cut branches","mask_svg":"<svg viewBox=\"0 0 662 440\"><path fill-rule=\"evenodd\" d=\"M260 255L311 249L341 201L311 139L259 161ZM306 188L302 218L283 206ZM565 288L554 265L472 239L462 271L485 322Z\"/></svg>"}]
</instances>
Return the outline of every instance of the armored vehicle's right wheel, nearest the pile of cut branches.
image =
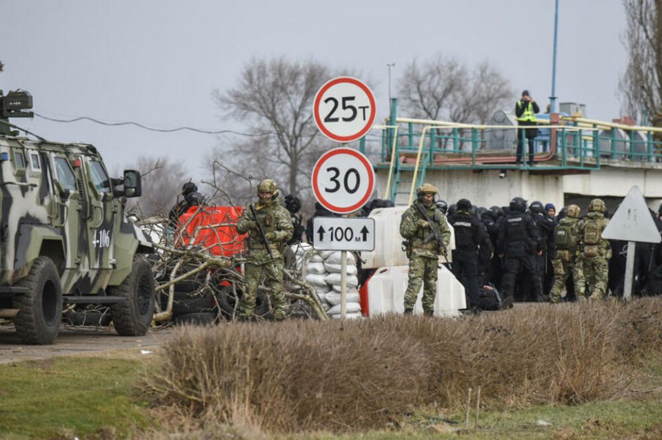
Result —
<instances>
[{"instance_id":1,"label":"armored vehicle's right wheel, nearest the pile of cut branches","mask_svg":"<svg viewBox=\"0 0 662 440\"><path fill-rule=\"evenodd\" d=\"M119 286L108 288L110 295L125 297L126 302L110 306L115 330L122 336L142 336L147 333L154 315L154 277L150 264L139 255L133 258L133 267Z\"/></svg>"}]
</instances>

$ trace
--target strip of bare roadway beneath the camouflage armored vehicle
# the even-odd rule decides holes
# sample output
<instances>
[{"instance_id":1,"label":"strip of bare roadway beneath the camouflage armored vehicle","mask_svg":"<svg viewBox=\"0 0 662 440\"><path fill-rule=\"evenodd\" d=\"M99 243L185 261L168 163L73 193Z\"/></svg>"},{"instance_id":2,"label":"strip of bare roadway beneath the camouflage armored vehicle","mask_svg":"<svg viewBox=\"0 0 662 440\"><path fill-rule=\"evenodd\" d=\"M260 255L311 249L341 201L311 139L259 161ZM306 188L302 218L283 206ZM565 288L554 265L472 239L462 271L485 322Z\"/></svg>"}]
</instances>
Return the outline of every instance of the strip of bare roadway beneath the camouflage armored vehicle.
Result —
<instances>
[{"instance_id":1,"label":"strip of bare roadway beneath the camouflage armored vehicle","mask_svg":"<svg viewBox=\"0 0 662 440\"><path fill-rule=\"evenodd\" d=\"M110 327L81 327L63 325L51 345L21 344L14 326L0 324L0 364L48 359L65 355L111 354L121 350L122 357L154 355L159 346L172 334L172 328L152 328L145 336L118 335Z\"/></svg>"}]
</instances>

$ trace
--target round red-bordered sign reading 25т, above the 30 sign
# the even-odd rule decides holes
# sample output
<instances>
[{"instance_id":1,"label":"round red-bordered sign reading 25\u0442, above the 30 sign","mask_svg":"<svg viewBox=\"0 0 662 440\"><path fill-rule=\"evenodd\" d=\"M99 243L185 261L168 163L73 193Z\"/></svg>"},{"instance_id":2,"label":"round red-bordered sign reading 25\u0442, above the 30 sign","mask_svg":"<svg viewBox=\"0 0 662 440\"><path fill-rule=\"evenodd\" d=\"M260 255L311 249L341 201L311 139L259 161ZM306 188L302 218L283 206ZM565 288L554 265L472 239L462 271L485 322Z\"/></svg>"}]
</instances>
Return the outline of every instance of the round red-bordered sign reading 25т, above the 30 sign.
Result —
<instances>
[{"instance_id":1,"label":"round red-bordered sign reading 25\u0442, above the 30 sign","mask_svg":"<svg viewBox=\"0 0 662 440\"><path fill-rule=\"evenodd\" d=\"M317 128L337 142L363 137L372 127L375 114L374 95L356 78L334 78L315 95L313 115Z\"/></svg>"}]
</instances>

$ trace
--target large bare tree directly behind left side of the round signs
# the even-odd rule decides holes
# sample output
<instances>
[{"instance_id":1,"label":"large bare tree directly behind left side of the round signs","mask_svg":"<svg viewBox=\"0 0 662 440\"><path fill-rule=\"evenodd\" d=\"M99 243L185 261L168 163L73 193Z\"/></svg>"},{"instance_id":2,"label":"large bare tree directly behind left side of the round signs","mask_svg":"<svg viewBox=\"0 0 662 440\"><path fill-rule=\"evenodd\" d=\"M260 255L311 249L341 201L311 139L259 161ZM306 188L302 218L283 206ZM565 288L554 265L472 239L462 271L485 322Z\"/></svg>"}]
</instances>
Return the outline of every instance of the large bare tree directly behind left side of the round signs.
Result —
<instances>
[{"instance_id":1,"label":"large bare tree directly behind left side of the round signs","mask_svg":"<svg viewBox=\"0 0 662 440\"><path fill-rule=\"evenodd\" d=\"M312 60L252 59L232 89L216 90L213 97L226 116L248 124L254 137L219 147L210 158L245 176L270 176L294 195L308 189L321 151L312 100L330 78L329 67Z\"/></svg>"}]
</instances>

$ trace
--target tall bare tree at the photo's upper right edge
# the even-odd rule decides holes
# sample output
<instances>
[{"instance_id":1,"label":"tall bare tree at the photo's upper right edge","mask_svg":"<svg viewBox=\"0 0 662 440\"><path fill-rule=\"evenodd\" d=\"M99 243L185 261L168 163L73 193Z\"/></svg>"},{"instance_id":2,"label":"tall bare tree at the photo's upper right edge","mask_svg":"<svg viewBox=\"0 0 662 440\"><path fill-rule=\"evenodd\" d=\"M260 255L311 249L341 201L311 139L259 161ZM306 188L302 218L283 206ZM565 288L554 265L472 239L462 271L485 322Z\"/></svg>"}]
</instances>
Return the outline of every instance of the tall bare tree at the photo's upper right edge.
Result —
<instances>
[{"instance_id":1,"label":"tall bare tree at the photo's upper right edge","mask_svg":"<svg viewBox=\"0 0 662 440\"><path fill-rule=\"evenodd\" d=\"M628 67L619 81L623 111L637 121L648 112L662 127L662 1L624 0L628 28L622 37Z\"/></svg>"}]
</instances>

